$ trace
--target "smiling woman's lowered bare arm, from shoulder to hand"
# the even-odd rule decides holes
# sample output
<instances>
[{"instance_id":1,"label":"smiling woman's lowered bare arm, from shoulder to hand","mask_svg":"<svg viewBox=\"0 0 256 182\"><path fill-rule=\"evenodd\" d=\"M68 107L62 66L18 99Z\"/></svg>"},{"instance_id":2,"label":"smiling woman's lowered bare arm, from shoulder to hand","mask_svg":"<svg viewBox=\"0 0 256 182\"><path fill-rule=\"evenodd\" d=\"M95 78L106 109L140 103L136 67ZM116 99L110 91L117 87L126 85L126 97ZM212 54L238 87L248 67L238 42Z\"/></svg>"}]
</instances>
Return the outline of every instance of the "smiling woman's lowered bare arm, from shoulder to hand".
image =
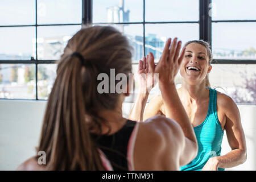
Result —
<instances>
[{"instance_id":1,"label":"smiling woman's lowered bare arm, from shoulder to hand","mask_svg":"<svg viewBox=\"0 0 256 182\"><path fill-rule=\"evenodd\" d=\"M226 118L226 135L229 146L232 151L228 154L210 158L208 164L205 164L205 169L217 170L217 168L230 168L238 166L246 161L246 142L245 134L243 133L240 112L232 98L221 94L221 106Z\"/></svg>"}]
</instances>

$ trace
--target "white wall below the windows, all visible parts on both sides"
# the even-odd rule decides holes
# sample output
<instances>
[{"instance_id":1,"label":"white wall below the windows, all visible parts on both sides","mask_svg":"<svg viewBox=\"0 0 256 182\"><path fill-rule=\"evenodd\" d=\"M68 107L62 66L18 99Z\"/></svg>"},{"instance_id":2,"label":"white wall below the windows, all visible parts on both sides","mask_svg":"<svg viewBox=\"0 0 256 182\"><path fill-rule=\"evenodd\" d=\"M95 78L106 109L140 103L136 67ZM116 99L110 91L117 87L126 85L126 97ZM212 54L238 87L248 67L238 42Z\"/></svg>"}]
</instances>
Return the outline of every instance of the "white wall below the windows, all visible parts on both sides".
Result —
<instances>
[{"instance_id":1,"label":"white wall below the windows, all visible parts on both sides","mask_svg":"<svg viewBox=\"0 0 256 182\"><path fill-rule=\"evenodd\" d=\"M123 115L131 109L123 104ZM0 170L15 170L35 153L38 145L46 101L0 100ZM256 106L239 105L242 126L246 135L247 160L226 170L256 170ZM230 148L226 136L222 154Z\"/></svg>"}]
</instances>

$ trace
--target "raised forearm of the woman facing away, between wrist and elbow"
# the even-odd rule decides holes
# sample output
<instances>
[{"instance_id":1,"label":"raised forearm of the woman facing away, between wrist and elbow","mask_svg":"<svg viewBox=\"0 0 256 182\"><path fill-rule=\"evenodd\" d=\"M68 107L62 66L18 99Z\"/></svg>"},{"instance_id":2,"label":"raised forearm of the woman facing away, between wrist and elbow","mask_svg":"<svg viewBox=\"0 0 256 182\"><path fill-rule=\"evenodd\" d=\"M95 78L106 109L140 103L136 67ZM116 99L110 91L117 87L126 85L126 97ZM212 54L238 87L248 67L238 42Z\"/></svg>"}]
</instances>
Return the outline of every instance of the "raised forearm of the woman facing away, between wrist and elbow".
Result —
<instances>
[{"instance_id":1,"label":"raised forearm of the woman facing away, between wrist and elbow","mask_svg":"<svg viewBox=\"0 0 256 182\"><path fill-rule=\"evenodd\" d=\"M163 104L166 111L166 117L174 119L184 132L185 137L197 143L190 119L181 104L175 84L159 84L163 97Z\"/></svg>"}]
</instances>

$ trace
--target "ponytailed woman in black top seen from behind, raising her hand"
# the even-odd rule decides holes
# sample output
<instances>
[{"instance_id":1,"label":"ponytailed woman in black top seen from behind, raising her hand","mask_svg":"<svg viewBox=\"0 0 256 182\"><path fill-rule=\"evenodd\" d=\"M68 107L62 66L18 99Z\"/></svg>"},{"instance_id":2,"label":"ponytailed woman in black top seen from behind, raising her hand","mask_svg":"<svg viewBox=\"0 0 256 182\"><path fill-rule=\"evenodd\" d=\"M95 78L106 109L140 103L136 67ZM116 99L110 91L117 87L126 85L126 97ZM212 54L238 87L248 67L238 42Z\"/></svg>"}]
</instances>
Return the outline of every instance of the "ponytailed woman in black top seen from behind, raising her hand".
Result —
<instances>
[{"instance_id":1,"label":"ponytailed woman in black top seen from behind, raising her hand","mask_svg":"<svg viewBox=\"0 0 256 182\"><path fill-rule=\"evenodd\" d=\"M161 116L130 121L122 117L122 103L133 84L128 79L132 49L127 38L109 26L82 28L64 49L48 98L37 148L45 152L46 162L35 156L18 169L177 170L190 162L197 153L195 133L175 86L169 84L184 55L183 50L179 56L180 49L177 39L172 44L168 39L159 64L150 62L152 73L166 70L159 75L160 89L168 92L163 95L167 114L180 125ZM116 80L100 92L100 75L111 78L113 69L129 81L121 93L112 92Z\"/></svg>"}]
</instances>

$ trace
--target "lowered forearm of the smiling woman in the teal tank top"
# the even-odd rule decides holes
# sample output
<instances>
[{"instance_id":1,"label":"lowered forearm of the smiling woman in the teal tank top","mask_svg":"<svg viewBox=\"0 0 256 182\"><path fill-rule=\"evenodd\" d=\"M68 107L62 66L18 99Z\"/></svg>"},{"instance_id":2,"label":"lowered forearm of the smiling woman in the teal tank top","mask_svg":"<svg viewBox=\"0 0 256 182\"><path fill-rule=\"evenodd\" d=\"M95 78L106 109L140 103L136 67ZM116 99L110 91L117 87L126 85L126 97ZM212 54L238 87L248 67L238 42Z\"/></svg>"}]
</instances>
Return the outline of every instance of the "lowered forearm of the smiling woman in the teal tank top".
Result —
<instances>
[{"instance_id":1,"label":"lowered forearm of the smiling woman in the teal tank top","mask_svg":"<svg viewBox=\"0 0 256 182\"><path fill-rule=\"evenodd\" d=\"M228 152L228 154L216 157L218 168L230 168L238 166L244 163L246 158L246 151L241 148L237 148Z\"/></svg>"}]
</instances>

